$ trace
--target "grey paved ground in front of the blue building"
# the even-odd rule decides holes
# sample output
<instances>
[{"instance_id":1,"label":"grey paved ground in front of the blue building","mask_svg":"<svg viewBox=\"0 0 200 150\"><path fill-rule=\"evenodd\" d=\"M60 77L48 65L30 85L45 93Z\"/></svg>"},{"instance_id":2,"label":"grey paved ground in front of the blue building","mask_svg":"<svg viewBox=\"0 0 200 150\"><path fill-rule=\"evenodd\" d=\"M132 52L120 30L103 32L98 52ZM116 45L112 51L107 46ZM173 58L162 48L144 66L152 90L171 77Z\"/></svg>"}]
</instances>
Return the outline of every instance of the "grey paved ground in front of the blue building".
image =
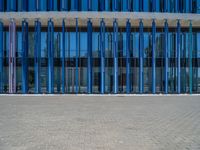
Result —
<instances>
[{"instance_id":1,"label":"grey paved ground in front of the blue building","mask_svg":"<svg viewBox=\"0 0 200 150\"><path fill-rule=\"evenodd\" d=\"M200 150L198 96L0 97L0 150Z\"/></svg>"}]
</instances>

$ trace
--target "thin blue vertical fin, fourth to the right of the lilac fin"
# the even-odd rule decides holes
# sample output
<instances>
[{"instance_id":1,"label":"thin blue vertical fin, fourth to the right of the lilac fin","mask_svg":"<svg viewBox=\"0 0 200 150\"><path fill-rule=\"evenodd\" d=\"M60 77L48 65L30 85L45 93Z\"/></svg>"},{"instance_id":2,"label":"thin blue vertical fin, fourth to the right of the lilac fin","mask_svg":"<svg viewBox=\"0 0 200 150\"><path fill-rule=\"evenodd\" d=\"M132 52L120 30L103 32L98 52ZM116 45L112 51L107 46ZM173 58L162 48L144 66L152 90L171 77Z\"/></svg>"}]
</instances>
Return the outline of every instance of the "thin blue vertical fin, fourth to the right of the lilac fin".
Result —
<instances>
[{"instance_id":1,"label":"thin blue vertical fin, fourth to the right of the lilac fin","mask_svg":"<svg viewBox=\"0 0 200 150\"><path fill-rule=\"evenodd\" d=\"M65 20L62 21L62 93L65 93Z\"/></svg>"}]
</instances>

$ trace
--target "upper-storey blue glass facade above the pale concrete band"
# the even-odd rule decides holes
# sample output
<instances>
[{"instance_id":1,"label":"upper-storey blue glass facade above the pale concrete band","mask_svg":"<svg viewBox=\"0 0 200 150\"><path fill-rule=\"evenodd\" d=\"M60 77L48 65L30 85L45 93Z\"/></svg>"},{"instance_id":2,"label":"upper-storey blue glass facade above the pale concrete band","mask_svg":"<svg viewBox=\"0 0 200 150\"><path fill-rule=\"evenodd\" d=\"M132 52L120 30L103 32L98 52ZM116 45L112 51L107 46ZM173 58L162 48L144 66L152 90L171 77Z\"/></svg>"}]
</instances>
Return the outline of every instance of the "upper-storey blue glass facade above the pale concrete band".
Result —
<instances>
[{"instance_id":1,"label":"upper-storey blue glass facade above the pale concrete band","mask_svg":"<svg viewBox=\"0 0 200 150\"><path fill-rule=\"evenodd\" d=\"M200 13L200 0L0 0L0 11Z\"/></svg>"}]
</instances>

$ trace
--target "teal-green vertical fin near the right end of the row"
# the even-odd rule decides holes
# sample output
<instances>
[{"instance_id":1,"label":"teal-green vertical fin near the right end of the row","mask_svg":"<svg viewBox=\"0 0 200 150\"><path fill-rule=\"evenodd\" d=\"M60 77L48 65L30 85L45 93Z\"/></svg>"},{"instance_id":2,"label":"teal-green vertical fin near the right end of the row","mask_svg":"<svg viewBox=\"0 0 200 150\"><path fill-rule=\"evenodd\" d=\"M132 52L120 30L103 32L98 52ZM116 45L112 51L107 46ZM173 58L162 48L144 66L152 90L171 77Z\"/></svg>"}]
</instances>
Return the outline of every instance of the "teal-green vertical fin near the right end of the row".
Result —
<instances>
[{"instance_id":1,"label":"teal-green vertical fin near the right end of the row","mask_svg":"<svg viewBox=\"0 0 200 150\"><path fill-rule=\"evenodd\" d=\"M192 94L192 91L193 91L193 81L192 81L192 78L193 78L193 73L192 73L192 57L193 57L193 40L192 40L192 21L190 21L190 26L189 26L189 41L190 41L190 44L189 44L189 87L190 87L190 94Z\"/></svg>"}]
</instances>

